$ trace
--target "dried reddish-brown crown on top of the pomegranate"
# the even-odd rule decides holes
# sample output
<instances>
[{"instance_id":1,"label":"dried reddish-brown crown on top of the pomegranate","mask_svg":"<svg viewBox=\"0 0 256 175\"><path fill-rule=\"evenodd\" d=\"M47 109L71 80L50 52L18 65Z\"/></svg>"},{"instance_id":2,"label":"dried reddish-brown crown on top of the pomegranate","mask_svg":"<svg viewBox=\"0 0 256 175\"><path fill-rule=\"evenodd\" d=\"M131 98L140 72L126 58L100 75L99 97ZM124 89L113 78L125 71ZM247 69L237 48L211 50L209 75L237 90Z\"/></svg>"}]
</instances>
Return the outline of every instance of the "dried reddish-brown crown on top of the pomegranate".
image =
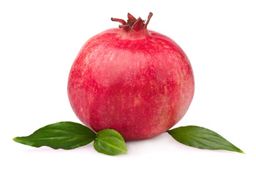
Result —
<instances>
[{"instance_id":1,"label":"dried reddish-brown crown on top of the pomegranate","mask_svg":"<svg viewBox=\"0 0 256 175\"><path fill-rule=\"evenodd\" d=\"M149 20L153 16L153 13L149 13L148 20L145 23L145 20L142 20L140 17L136 19L134 16L128 13L128 20L125 22L125 20L118 19L118 18L111 18L112 21L117 21L121 23L119 25L119 28L123 28L124 31L141 31L143 29L146 29L149 23Z\"/></svg>"}]
</instances>

